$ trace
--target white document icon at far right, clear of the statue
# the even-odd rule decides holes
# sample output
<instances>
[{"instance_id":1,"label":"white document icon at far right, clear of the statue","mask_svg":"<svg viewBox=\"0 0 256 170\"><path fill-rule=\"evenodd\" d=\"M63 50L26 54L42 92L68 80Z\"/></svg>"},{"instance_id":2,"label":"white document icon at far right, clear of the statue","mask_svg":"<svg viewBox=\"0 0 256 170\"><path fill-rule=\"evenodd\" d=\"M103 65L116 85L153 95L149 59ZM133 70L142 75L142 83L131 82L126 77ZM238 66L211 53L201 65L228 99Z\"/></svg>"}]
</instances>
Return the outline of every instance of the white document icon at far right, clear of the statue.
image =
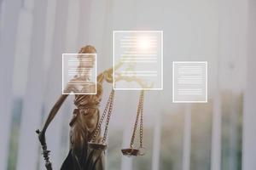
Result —
<instances>
[{"instance_id":1,"label":"white document icon at far right, clear of the statue","mask_svg":"<svg viewBox=\"0 0 256 170\"><path fill-rule=\"evenodd\" d=\"M174 61L172 66L172 101L207 102L207 61Z\"/></svg>"}]
</instances>

